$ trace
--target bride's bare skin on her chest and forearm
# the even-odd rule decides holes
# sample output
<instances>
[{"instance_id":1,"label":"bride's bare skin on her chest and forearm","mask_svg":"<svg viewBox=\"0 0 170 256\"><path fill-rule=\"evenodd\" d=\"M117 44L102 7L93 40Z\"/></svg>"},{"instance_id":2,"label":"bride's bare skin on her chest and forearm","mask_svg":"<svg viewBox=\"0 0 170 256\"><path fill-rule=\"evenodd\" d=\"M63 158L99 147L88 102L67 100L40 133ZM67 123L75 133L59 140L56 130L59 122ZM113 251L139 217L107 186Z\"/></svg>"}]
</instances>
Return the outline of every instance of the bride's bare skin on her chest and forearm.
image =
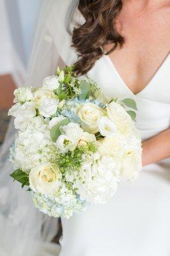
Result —
<instances>
[{"instance_id":1,"label":"bride's bare skin on her chest and forearm","mask_svg":"<svg viewBox=\"0 0 170 256\"><path fill-rule=\"evenodd\" d=\"M170 52L170 1L124 0L116 26L125 37L125 44L109 57L125 84L136 94L148 85ZM107 45L105 50L109 51L111 46ZM170 129L143 142L143 166L167 157L170 157Z\"/></svg>"}]
</instances>

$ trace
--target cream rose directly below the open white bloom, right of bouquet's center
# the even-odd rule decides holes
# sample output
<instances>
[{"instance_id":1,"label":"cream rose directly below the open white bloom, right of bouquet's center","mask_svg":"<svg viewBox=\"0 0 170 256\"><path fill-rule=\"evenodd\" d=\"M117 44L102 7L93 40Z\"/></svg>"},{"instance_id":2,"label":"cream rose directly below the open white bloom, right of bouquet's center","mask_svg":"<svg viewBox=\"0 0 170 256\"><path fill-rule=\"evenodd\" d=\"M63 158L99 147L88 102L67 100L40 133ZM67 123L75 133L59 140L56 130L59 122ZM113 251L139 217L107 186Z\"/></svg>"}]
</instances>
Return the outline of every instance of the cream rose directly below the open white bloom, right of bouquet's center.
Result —
<instances>
[{"instance_id":1,"label":"cream rose directly below the open white bloom, right of bouquet's center","mask_svg":"<svg viewBox=\"0 0 170 256\"><path fill-rule=\"evenodd\" d=\"M120 136L105 137L97 141L98 152L101 156L121 157L125 153L125 148L121 143Z\"/></svg>"}]
</instances>

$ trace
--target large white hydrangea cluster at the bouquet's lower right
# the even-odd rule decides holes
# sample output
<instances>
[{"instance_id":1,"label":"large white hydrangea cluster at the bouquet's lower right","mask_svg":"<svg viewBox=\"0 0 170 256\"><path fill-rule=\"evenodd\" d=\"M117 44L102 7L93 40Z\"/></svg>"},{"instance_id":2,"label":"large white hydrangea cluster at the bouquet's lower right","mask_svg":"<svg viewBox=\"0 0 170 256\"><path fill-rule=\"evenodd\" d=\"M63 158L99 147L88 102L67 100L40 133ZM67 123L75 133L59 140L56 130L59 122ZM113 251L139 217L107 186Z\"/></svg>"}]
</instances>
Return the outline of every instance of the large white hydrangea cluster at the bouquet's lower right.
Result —
<instances>
[{"instance_id":1,"label":"large white hydrangea cluster at the bouquet's lower right","mask_svg":"<svg viewBox=\"0 0 170 256\"><path fill-rule=\"evenodd\" d=\"M93 164L84 163L79 173L81 180L75 184L75 187L82 199L105 204L116 192L120 170L112 157L104 156Z\"/></svg>"}]
</instances>

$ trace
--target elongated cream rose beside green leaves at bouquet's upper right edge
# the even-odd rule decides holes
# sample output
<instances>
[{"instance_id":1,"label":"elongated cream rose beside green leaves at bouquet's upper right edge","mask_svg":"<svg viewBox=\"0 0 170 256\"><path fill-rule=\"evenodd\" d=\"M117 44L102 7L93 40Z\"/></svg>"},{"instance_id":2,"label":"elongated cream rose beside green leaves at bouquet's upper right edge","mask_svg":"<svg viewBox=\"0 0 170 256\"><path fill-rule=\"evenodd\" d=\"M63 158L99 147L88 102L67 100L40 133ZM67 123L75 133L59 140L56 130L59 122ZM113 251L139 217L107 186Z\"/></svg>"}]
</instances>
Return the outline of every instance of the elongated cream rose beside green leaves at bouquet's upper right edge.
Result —
<instances>
[{"instance_id":1,"label":"elongated cream rose beside green leaves at bouquet's upper right edge","mask_svg":"<svg viewBox=\"0 0 170 256\"><path fill-rule=\"evenodd\" d=\"M134 123L125 109L116 102L108 104L106 109L107 116L116 124L118 131L124 136L130 136Z\"/></svg>"}]
</instances>

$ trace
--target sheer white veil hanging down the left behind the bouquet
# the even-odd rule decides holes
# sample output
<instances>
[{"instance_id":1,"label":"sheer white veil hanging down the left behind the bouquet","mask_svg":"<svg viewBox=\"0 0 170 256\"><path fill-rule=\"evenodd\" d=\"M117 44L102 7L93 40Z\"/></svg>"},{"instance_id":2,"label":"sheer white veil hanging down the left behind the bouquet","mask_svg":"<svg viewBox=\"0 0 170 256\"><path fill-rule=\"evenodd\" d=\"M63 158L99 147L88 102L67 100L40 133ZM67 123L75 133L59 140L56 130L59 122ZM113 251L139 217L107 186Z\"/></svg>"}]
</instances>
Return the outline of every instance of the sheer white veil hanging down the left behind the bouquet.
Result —
<instances>
[{"instance_id":1,"label":"sheer white veil hanging down the left behind the bouquet","mask_svg":"<svg viewBox=\"0 0 170 256\"><path fill-rule=\"evenodd\" d=\"M40 86L43 78L54 74L56 67L69 65L76 54L70 49L71 20L77 0L46 0L35 35L35 44L25 86ZM73 25L74 26L74 25ZM1 256L51 255L45 254L48 244L58 231L58 220L35 209L31 196L20 184L12 182L9 150L15 138L13 120L3 146L0 148L0 254ZM54 244L51 248L54 247ZM40 252L42 248L42 253ZM55 247L58 255L58 248Z\"/></svg>"}]
</instances>

